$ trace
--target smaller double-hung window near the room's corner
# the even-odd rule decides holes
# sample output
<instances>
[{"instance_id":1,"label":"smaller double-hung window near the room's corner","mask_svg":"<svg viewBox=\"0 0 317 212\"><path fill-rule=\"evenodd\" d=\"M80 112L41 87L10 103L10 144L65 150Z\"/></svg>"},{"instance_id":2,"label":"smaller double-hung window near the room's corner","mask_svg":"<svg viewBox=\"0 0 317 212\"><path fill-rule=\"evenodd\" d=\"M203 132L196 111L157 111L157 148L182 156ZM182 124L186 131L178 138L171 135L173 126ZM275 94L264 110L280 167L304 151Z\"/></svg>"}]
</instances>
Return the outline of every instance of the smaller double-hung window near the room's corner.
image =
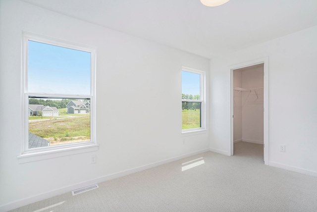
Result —
<instances>
[{"instance_id":1,"label":"smaller double-hung window near the room's corner","mask_svg":"<svg viewBox=\"0 0 317 212\"><path fill-rule=\"evenodd\" d=\"M182 130L205 129L205 72L182 69Z\"/></svg>"}]
</instances>

